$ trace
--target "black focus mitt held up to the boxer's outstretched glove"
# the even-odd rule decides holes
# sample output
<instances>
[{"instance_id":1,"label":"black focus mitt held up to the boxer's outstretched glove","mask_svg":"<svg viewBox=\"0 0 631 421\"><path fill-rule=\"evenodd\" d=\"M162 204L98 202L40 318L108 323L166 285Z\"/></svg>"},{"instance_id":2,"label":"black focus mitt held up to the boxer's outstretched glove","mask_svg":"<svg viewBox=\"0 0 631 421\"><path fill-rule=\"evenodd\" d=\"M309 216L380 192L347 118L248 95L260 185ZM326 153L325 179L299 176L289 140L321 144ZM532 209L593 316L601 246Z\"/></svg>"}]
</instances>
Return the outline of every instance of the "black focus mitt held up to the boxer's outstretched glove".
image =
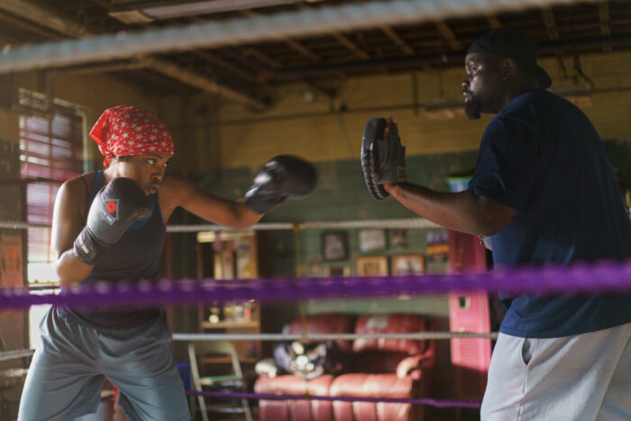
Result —
<instances>
[{"instance_id":1,"label":"black focus mitt held up to the boxer's outstretched glove","mask_svg":"<svg viewBox=\"0 0 631 421\"><path fill-rule=\"evenodd\" d=\"M406 147L398 137L397 124L390 124L388 139L384 140L387 126L385 118L371 118L361 140L363 180L370 197L376 200L390 196L381 184L407 180Z\"/></svg>"}]
</instances>

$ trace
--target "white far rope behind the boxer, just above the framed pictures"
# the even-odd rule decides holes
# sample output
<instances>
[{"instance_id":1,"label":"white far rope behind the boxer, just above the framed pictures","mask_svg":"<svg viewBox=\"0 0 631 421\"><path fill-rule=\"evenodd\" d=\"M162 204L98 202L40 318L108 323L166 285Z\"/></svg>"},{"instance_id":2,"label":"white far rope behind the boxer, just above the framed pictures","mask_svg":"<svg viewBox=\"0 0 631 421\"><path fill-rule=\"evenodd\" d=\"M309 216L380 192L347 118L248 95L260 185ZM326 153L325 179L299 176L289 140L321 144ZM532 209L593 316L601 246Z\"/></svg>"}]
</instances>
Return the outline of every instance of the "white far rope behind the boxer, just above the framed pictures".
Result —
<instances>
[{"instance_id":1,"label":"white far rope behind the boxer, just above the framed pictures","mask_svg":"<svg viewBox=\"0 0 631 421\"><path fill-rule=\"evenodd\" d=\"M0 228L24 230L27 228L50 228L50 224L32 224L21 221L0 221ZM304 223L263 223L254 224L248 230L276 231L276 230L308 230L308 229L352 229L352 228L440 228L424 218L401 219L372 219L365 221L331 221L331 222L304 222ZM234 228L215 224L197 225L167 225L168 233L199 233L203 231L238 231Z\"/></svg>"}]
</instances>

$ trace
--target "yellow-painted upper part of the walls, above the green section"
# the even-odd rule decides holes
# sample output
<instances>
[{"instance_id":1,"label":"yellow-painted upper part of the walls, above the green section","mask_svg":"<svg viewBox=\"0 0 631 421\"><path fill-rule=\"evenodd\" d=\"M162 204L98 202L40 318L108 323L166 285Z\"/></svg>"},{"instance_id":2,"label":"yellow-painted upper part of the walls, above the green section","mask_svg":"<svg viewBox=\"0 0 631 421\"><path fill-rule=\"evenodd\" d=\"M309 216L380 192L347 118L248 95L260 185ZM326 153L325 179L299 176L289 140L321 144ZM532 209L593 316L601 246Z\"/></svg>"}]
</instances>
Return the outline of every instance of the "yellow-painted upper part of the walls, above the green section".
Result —
<instances>
[{"instance_id":1,"label":"yellow-painted upper part of the walls, above the green section","mask_svg":"<svg viewBox=\"0 0 631 421\"><path fill-rule=\"evenodd\" d=\"M570 76L565 79L556 59L545 59L541 64L552 76L553 87L572 85L572 77L576 77L572 58L564 61ZM595 83L592 105L583 108L585 113L604 139L631 138L631 53L582 56L581 64ZM475 151L491 116L483 116L480 121L465 116L432 119L422 108L425 101L441 97L462 101L463 77L463 69L459 68L416 72L417 112L412 73L348 78L336 82L338 95L334 99L317 92L313 104L303 100L304 84L279 87L265 112L251 112L221 98L198 95L187 99L185 131L181 130L182 97L145 92L116 74L62 75L53 79L53 89L56 97L86 109L88 129L110 106L126 103L156 112L169 126L176 143L171 170L179 172L186 158L189 173L203 173L210 168L258 167L279 153L294 153L314 161L355 159L364 124L375 116L393 116L411 155ZM20 75L16 83L42 90L36 72ZM340 111L342 105L346 111ZM205 113L210 114L211 121L207 128ZM17 141L17 121L14 114L0 110L5 140ZM210 147L206 145L208 137ZM181 153L185 150L187 157ZM92 152L97 157L94 145Z\"/></svg>"}]
</instances>

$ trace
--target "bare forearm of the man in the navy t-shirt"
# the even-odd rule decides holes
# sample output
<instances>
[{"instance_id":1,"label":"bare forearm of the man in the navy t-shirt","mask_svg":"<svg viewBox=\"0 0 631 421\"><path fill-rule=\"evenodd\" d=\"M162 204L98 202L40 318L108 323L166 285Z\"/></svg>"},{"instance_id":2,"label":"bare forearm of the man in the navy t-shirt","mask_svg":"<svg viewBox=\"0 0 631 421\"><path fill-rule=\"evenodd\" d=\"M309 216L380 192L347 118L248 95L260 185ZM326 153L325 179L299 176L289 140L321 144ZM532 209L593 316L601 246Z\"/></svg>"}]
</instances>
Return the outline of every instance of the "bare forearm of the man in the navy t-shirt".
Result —
<instances>
[{"instance_id":1,"label":"bare forearm of the man in the navy t-shirt","mask_svg":"<svg viewBox=\"0 0 631 421\"><path fill-rule=\"evenodd\" d=\"M497 233L514 215L514 211L508 215L506 209L498 209L498 206L506 206L491 203L490 199L477 197L471 191L446 193L410 183L387 184L384 188L415 214L462 233Z\"/></svg>"}]
</instances>

